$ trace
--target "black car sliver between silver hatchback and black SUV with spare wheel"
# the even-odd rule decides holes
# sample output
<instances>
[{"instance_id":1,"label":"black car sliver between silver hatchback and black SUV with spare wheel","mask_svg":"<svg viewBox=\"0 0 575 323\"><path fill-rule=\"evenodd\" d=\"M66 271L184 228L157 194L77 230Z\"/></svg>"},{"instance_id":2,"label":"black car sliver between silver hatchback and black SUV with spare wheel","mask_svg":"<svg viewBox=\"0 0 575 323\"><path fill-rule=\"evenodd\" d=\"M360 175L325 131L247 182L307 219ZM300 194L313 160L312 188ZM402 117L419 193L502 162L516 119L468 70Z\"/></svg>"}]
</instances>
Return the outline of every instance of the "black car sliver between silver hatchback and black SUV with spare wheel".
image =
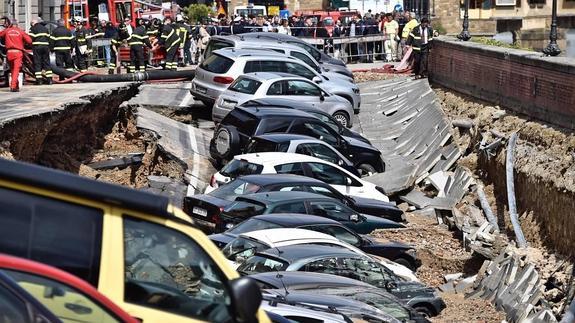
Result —
<instances>
[{"instance_id":1,"label":"black car sliver between silver hatchback and black SUV with spare wheel","mask_svg":"<svg viewBox=\"0 0 575 323\"><path fill-rule=\"evenodd\" d=\"M297 103L297 105L294 105ZM262 98L262 99L253 99L246 101L239 105L240 107L246 108L286 108L286 109L297 109L301 111L305 111L312 116L320 119L321 121L325 122L328 126L330 126L333 130L337 131L340 135L354 138L357 140L361 140L367 144L371 145L371 142L367 138L364 138L359 133L344 127L341 123L339 123L331 114L324 112L323 110L316 108L315 106L305 103L305 102L295 102L292 100L285 100L282 98Z\"/></svg>"}]
</instances>

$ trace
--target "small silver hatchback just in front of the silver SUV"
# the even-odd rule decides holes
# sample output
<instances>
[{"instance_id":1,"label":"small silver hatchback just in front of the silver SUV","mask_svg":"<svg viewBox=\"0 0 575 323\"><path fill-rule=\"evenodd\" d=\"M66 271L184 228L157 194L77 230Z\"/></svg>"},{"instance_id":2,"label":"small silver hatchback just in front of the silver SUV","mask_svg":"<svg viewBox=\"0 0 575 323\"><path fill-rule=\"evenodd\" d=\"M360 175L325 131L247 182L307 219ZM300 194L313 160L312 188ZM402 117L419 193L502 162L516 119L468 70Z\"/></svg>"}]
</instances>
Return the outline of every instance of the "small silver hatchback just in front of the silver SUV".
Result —
<instances>
[{"instance_id":1,"label":"small silver hatchback just in front of the silver SUV","mask_svg":"<svg viewBox=\"0 0 575 323\"><path fill-rule=\"evenodd\" d=\"M329 113L345 127L352 125L353 107L348 100L306 78L271 72L238 77L214 104L212 119L220 122L237 105L268 97L306 103Z\"/></svg>"}]
</instances>

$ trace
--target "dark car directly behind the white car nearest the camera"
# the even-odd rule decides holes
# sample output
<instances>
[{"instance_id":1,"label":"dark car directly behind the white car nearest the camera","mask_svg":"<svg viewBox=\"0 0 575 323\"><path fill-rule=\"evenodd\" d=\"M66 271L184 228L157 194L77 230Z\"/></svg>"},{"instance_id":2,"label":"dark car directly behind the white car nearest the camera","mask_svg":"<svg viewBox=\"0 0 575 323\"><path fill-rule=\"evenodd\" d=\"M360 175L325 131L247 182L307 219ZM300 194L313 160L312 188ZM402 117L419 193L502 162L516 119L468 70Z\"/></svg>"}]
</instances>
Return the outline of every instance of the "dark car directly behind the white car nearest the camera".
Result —
<instances>
[{"instance_id":1,"label":"dark car directly behind the white car nearest the camera","mask_svg":"<svg viewBox=\"0 0 575 323\"><path fill-rule=\"evenodd\" d=\"M264 214L249 218L224 233L212 234L208 238L219 248L242 233L274 228L299 228L329 234L345 241L362 251L387 258L415 271L421 261L417 259L415 249L401 242L377 242L366 235L359 235L341 223L328 218L308 214Z\"/></svg>"}]
</instances>

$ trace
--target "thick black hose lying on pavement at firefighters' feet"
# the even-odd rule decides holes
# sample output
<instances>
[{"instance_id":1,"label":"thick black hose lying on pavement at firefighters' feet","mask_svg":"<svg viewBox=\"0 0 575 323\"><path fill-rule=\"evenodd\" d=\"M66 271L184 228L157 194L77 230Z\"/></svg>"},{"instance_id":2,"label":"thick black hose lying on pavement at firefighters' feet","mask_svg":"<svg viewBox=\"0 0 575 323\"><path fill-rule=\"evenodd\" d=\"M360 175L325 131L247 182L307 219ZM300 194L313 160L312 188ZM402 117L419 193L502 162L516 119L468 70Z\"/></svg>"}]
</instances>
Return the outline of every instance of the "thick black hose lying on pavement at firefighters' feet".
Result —
<instances>
[{"instance_id":1,"label":"thick black hose lying on pavement at firefighters' feet","mask_svg":"<svg viewBox=\"0 0 575 323\"><path fill-rule=\"evenodd\" d=\"M52 65L54 74L64 77L64 83L72 80L78 82L144 82L153 80L191 80L196 74L195 70L185 71L166 71L150 70L145 72L135 72L127 74L95 74L95 73L77 73L68 71L64 68Z\"/></svg>"}]
</instances>

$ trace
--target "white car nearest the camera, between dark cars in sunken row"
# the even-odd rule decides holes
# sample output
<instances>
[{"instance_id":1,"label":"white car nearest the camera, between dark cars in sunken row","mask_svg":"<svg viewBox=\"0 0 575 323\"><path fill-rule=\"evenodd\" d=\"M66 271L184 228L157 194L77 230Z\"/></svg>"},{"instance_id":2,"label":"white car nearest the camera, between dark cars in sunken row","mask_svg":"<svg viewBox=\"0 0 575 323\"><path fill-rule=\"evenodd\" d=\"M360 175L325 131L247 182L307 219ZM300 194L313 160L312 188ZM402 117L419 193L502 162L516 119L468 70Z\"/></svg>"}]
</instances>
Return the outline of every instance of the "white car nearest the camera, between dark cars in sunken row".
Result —
<instances>
[{"instance_id":1,"label":"white car nearest the camera, between dark cars in sunken row","mask_svg":"<svg viewBox=\"0 0 575 323\"><path fill-rule=\"evenodd\" d=\"M270 248L300 244L321 244L342 247L353 251L358 255L369 257L381 263L397 276L409 281L418 281L413 272L405 266L396 264L387 259L379 257L373 258L360 249L343 242L334 236L305 229L277 228L242 233L234 240L230 241L222 249L222 253L226 258L228 258L228 260L230 260L232 266L237 268L241 262L253 256L256 252Z\"/></svg>"}]
</instances>

